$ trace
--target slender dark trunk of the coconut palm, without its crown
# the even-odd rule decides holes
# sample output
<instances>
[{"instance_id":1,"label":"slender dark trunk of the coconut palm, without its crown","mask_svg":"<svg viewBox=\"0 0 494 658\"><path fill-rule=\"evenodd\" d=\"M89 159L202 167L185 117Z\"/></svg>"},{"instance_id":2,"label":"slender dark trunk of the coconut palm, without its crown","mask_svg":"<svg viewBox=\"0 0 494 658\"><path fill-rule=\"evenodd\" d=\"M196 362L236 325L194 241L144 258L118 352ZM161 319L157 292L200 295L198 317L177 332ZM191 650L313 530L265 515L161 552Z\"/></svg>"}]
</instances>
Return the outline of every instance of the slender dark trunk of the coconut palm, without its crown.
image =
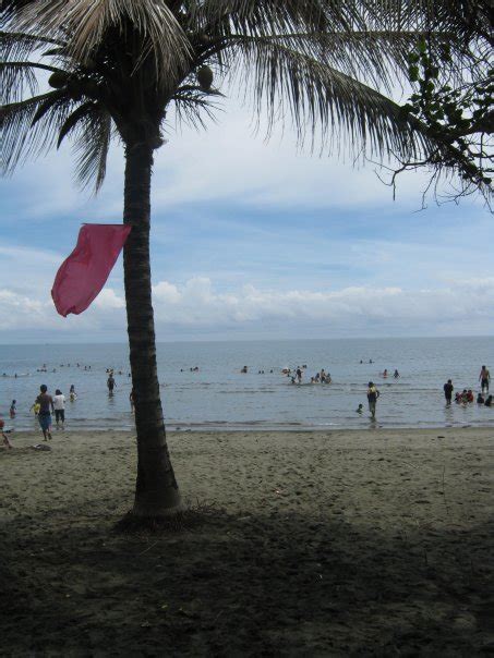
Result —
<instances>
[{"instance_id":1,"label":"slender dark trunk of the coconut palm, without its crown","mask_svg":"<svg viewBox=\"0 0 494 658\"><path fill-rule=\"evenodd\" d=\"M156 366L149 264L152 166L153 150L148 146L126 147L123 222L131 224L132 231L123 249L123 269L137 430L132 514L159 517L179 511L181 502L168 453Z\"/></svg>"}]
</instances>

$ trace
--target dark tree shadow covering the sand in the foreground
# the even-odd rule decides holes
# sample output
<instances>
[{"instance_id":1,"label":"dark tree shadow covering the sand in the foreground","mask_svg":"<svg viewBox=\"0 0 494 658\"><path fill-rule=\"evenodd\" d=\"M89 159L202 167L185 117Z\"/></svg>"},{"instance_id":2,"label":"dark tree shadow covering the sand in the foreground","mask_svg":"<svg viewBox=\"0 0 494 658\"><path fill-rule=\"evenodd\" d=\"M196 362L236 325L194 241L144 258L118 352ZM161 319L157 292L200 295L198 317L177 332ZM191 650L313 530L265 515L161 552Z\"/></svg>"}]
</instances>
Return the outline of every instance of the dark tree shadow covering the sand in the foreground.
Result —
<instances>
[{"instance_id":1,"label":"dark tree shadow covering the sand in the foreground","mask_svg":"<svg viewBox=\"0 0 494 658\"><path fill-rule=\"evenodd\" d=\"M475 655L492 642L492 528L405 534L345 519L231 516L168 535L11 524L11 653ZM34 558L33 558L34 556Z\"/></svg>"}]
</instances>

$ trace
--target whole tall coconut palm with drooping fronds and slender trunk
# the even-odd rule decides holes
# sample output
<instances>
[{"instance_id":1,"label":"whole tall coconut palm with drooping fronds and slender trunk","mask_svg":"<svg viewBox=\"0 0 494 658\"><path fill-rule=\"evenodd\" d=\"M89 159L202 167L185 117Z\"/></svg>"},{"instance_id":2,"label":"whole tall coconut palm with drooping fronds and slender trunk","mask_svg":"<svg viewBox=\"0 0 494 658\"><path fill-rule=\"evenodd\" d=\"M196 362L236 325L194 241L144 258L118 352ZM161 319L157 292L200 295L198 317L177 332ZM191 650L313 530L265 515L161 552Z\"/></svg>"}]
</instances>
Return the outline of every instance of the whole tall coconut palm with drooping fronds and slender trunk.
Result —
<instances>
[{"instance_id":1,"label":"whole tall coconut palm with drooping fronds and slender trunk","mask_svg":"<svg viewBox=\"0 0 494 658\"><path fill-rule=\"evenodd\" d=\"M462 0L4 0L3 172L65 136L76 178L97 191L110 142L125 155L124 284L138 467L133 514L180 509L156 368L149 267L153 154L167 112L202 125L230 84L250 89L268 133L290 119L299 142L317 134L357 151L409 159L426 148L390 92L418 35L455 28ZM471 3L467 3L471 4ZM461 39L459 39L461 40ZM435 42L435 41L434 41ZM39 75L48 85L39 93Z\"/></svg>"}]
</instances>

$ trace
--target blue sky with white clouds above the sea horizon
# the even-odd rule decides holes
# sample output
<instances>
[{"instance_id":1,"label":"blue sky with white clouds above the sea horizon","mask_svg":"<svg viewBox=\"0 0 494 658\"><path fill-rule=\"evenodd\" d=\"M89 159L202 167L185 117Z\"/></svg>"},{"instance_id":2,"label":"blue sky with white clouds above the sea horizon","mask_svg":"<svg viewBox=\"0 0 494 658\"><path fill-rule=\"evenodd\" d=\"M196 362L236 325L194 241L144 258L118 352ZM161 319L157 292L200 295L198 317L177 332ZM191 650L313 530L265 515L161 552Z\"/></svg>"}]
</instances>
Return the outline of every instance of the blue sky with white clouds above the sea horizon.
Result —
<instances>
[{"instance_id":1,"label":"blue sky with white clouds above the sea horizon","mask_svg":"<svg viewBox=\"0 0 494 658\"><path fill-rule=\"evenodd\" d=\"M236 100L167 139L152 197L158 340L494 333L479 199L421 209L427 179L408 173L394 200L375 164L299 153L288 129L266 143ZM50 297L81 224L121 221L122 184L116 146L99 195L81 192L69 145L0 183L0 342L126 340L121 258L84 314L62 318Z\"/></svg>"}]
</instances>

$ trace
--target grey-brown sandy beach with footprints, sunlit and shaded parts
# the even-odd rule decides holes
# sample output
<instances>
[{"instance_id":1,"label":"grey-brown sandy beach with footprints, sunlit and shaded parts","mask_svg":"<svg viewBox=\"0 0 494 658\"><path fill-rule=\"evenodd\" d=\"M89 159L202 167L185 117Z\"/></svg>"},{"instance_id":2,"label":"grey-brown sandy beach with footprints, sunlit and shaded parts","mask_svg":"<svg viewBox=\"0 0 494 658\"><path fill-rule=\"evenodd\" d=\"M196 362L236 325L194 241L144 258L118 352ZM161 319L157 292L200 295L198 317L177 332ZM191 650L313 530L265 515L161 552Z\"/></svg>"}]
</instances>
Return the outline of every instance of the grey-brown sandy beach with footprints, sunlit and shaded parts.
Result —
<instances>
[{"instance_id":1,"label":"grey-brown sandy beach with footprints, sunlit and shaded parts","mask_svg":"<svg viewBox=\"0 0 494 658\"><path fill-rule=\"evenodd\" d=\"M494 429L174 432L174 534L121 535L130 432L12 436L4 656L494 654Z\"/></svg>"}]
</instances>

